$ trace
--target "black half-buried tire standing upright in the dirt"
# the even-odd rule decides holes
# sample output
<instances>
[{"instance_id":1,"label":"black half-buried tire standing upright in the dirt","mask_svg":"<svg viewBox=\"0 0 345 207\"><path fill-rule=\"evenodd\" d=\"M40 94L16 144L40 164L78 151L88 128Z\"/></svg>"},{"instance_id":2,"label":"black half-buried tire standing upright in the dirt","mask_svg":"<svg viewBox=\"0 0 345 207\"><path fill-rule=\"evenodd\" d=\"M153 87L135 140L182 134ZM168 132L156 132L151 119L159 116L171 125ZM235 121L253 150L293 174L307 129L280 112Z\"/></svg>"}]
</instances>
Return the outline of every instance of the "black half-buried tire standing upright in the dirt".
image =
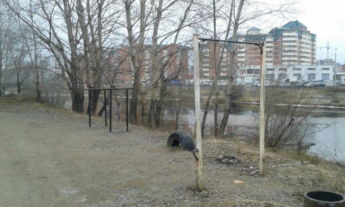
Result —
<instances>
[{"instance_id":1,"label":"black half-buried tire standing upright in the dirt","mask_svg":"<svg viewBox=\"0 0 345 207\"><path fill-rule=\"evenodd\" d=\"M176 130L170 133L167 141L169 147L182 146L184 150L195 150L194 141L189 132L184 130Z\"/></svg>"}]
</instances>

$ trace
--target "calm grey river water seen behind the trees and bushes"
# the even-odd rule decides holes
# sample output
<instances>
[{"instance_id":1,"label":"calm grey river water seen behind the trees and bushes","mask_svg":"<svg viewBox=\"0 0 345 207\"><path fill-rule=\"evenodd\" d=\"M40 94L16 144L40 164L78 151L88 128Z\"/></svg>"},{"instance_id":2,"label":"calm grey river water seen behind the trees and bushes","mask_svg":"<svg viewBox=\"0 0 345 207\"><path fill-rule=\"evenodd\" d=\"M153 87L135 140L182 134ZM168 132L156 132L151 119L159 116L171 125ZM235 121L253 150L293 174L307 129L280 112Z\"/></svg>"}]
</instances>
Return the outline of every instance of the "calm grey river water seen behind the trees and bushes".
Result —
<instances>
[{"instance_id":1,"label":"calm grey river water seen behind the trees and bushes","mask_svg":"<svg viewBox=\"0 0 345 207\"><path fill-rule=\"evenodd\" d=\"M100 97L103 99L103 97ZM87 99L86 99L87 100ZM121 102L121 108L117 109L115 100L113 100L113 112L114 118L116 114L121 114L121 119L125 120L125 101L119 99ZM87 101L85 101L87 103ZM86 108L85 103L85 108ZM99 108L101 107L101 101L99 101ZM243 105L242 105L243 106ZM234 110L230 112L226 137L236 138L242 140L257 140L254 135L257 131L257 106L253 106L253 110L248 105L243 109L241 106L234 106ZM71 108L71 102L66 101L65 108ZM193 102L185 103L183 107L174 107L173 105L165 106L163 111L163 120L161 121L161 128L168 131L178 129L187 129L188 131L194 131L195 115ZM109 112L109 110L107 110ZM201 113L204 111L201 109ZM178 121L176 123L176 117L178 114ZM223 117L222 111L218 112L218 121ZM109 116L108 116L109 117ZM304 144L316 144L307 149L312 155L317 155L332 161L345 161L345 111L344 110L319 110L315 109L310 114L309 121L313 123L319 123L315 128L309 131L309 135L304 138ZM320 128L323 130L318 131ZM207 119L205 134L214 133L214 111L210 110Z\"/></svg>"}]
</instances>

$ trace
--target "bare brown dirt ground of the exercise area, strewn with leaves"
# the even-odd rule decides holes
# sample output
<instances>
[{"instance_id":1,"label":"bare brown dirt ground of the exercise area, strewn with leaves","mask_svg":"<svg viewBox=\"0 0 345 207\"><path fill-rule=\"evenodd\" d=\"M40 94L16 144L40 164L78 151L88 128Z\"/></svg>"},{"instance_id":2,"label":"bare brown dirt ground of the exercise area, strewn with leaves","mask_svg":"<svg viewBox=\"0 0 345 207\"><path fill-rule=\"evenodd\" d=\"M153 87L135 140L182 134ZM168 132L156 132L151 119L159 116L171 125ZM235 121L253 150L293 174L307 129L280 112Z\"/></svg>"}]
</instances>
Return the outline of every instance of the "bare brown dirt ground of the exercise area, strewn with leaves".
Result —
<instances>
[{"instance_id":1,"label":"bare brown dirt ground of the exercise area, strewn with leaves","mask_svg":"<svg viewBox=\"0 0 345 207\"><path fill-rule=\"evenodd\" d=\"M193 154L166 146L168 134L123 123L113 133L103 120L36 103L0 99L0 200L14 206L231 206L241 199L268 206L302 206L303 193L329 189L312 164L257 170L257 150L205 139L202 193L191 189ZM242 162L223 165L219 155ZM294 163L267 152L266 165ZM234 184L233 180L244 184Z\"/></svg>"}]
</instances>

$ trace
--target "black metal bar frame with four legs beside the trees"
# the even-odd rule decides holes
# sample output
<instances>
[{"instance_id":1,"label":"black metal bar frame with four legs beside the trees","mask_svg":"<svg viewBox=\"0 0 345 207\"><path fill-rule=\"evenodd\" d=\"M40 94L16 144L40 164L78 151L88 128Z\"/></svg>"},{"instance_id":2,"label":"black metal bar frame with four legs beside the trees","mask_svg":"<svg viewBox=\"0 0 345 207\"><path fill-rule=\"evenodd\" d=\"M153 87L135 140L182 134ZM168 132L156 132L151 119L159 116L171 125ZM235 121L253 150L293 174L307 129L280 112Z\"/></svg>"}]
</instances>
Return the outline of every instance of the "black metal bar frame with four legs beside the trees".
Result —
<instances>
[{"instance_id":1,"label":"black metal bar frame with four legs beside the trees","mask_svg":"<svg viewBox=\"0 0 345 207\"><path fill-rule=\"evenodd\" d=\"M106 96L106 91L109 90L109 131L111 132L111 119L112 119L112 91L113 90L126 90L126 131L128 131L128 90L133 89L133 88L88 88L85 90L89 91L89 106L88 106L88 111L89 111L89 127L91 127L91 91L94 90L99 90L99 91L104 91L104 117L105 117L105 122L107 126L107 96Z\"/></svg>"}]
</instances>

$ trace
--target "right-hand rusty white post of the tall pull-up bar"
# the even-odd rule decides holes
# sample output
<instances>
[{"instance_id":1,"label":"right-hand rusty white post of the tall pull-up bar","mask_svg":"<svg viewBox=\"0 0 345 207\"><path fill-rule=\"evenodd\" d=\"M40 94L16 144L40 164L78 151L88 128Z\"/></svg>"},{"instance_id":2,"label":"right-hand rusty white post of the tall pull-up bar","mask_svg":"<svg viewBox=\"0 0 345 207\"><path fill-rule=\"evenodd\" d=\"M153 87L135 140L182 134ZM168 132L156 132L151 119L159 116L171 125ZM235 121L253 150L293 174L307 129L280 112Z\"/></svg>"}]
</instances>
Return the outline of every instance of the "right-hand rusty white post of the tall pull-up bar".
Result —
<instances>
[{"instance_id":1,"label":"right-hand rusty white post of the tall pull-up bar","mask_svg":"<svg viewBox=\"0 0 345 207\"><path fill-rule=\"evenodd\" d=\"M260 67L260 175L265 174L265 71L266 71L266 42L261 46ZM255 84L255 83L254 83Z\"/></svg>"}]
</instances>

